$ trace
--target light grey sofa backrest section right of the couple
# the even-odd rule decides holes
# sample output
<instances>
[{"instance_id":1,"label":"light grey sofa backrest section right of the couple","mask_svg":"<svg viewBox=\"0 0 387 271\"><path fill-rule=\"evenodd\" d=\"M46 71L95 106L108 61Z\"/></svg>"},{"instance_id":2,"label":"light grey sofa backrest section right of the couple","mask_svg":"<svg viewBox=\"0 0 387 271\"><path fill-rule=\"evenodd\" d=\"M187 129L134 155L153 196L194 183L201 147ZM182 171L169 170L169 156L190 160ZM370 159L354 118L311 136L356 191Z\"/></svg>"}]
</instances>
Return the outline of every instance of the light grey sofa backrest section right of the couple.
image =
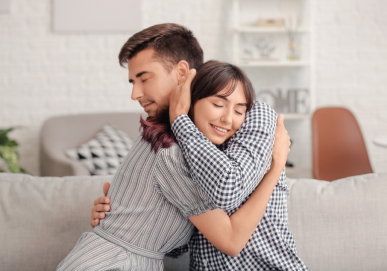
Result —
<instances>
[{"instance_id":1,"label":"light grey sofa backrest section right of the couple","mask_svg":"<svg viewBox=\"0 0 387 271\"><path fill-rule=\"evenodd\" d=\"M387 269L387 173L288 185L289 228L310 270Z\"/></svg>"}]
</instances>

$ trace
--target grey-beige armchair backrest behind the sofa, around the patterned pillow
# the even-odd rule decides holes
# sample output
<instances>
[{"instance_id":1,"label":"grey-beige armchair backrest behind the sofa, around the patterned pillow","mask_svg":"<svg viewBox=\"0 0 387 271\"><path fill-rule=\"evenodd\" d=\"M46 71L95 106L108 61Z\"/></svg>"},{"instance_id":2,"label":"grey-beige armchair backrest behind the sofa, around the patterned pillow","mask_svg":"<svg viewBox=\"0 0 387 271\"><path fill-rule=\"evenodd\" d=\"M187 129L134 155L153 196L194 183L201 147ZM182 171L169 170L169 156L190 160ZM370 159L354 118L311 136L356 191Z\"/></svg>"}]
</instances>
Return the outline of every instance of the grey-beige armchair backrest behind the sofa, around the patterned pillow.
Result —
<instances>
[{"instance_id":1,"label":"grey-beige armchair backrest behind the sofa, around the patterned pillow","mask_svg":"<svg viewBox=\"0 0 387 271\"><path fill-rule=\"evenodd\" d=\"M105 123L115 125L134 141L140 133L141 113L98 113L52 117L40 134L40 173L42 176L90 175L80 163L65 154L94 137Z\"/></svg>"}]
</instances>

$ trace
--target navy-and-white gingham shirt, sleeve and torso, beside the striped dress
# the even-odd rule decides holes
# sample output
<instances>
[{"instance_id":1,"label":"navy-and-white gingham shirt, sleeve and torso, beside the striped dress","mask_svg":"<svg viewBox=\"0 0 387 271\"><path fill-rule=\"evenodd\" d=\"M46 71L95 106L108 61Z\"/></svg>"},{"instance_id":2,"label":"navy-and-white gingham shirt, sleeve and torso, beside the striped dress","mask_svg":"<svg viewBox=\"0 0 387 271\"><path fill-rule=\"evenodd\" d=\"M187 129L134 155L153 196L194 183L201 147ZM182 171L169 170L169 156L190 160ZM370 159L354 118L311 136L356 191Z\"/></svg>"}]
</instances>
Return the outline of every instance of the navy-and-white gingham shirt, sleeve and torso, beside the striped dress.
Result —
<instances>
[{"instance_id":1,"label":"navy-and-white gingham shirt, sleeve and torso, beside the striped dress","mask_svg":"<svg viewBox=\"0 0 387 271\"><path fill-rule=\"evenodd\" d=\"M176 118L172 130L193 181L218 208L232 215L270 168L276 125L275 111L255 102L240 129L224 146L213 145L185 114ZM284 169L263 219L237 257L222 253L196 230L189 242L190 269L307 270L288 229L288 195ZM181 247L170 254L184 251L186 247Z\"/></svg>"}]
</instances>

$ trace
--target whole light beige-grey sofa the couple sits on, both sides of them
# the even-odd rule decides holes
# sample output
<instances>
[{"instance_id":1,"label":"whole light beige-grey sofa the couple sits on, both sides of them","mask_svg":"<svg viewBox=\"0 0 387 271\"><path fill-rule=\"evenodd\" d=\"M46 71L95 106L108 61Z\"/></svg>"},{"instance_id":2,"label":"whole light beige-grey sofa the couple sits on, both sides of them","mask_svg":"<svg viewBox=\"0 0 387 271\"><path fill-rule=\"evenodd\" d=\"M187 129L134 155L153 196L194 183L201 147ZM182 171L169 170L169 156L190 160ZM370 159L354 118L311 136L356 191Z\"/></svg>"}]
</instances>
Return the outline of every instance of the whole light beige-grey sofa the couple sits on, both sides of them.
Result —
<instances>
[{"instance_id":1,"label":"whole light beige-grey sofa the couple sits on, both sides of them","mask_svg":"<svg viewBox=\"0 0 387 271\"><path fill-rule=\"evenodd\" d=\"M0 173L0 270L54 270L91 230L93 201L111 178ZM288 184L289 227L310 270L387 270L387 173ZM164 262L187 270L188 255Z\"/></svg>"}]
</instances>

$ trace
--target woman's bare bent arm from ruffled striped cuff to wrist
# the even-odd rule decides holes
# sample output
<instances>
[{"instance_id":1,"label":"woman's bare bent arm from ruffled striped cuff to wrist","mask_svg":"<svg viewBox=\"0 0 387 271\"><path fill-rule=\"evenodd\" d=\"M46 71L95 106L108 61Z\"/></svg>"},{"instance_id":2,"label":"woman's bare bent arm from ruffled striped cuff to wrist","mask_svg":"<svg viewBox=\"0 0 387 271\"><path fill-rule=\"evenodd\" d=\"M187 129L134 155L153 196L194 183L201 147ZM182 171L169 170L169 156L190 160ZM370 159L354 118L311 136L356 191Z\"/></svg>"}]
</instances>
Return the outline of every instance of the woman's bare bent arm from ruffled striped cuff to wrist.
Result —
<instances>
[{"instance_id":1,"label":"woman's bare bent arm from ruffled striped cuff to wrist","mask_svg":"<svg viewBox=\"0 0 387 271\"><path fill-rule=\"evenodd\" d=\"M216 209L190 217L190 221L216 248L230 256L238 255L260 223L282 170L272 164L248 200L230 217Z\"/></svg>"}]
</instances>

